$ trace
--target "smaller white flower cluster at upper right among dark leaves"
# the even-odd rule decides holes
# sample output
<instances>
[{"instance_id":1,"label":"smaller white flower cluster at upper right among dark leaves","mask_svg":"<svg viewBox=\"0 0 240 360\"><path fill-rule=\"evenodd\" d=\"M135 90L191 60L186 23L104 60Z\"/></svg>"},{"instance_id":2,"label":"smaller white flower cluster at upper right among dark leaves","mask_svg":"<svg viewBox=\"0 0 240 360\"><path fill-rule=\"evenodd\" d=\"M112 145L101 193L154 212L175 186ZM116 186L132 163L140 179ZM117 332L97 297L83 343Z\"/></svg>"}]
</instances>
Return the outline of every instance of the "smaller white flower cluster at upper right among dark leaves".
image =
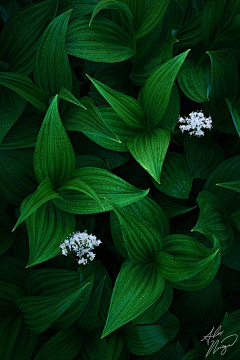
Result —
<instances>
[{"instance_id":1,"label":"smaller white flower cluster at upper right among dark leaves","mask_svg":"<svg viewBox=\"0 0 240 360\"><path fill-rule=\"evenodd\" d=\"M211 129L212 128L212 118L209 116L205 118L202 111L191 112L189 114L190 117L182 118L179 116L178 122L184 123L184 125L180 125L179 129L182 131L189 131L190 135L195 136L204 136L204 129Z\"/></svg>"}]
</instances>

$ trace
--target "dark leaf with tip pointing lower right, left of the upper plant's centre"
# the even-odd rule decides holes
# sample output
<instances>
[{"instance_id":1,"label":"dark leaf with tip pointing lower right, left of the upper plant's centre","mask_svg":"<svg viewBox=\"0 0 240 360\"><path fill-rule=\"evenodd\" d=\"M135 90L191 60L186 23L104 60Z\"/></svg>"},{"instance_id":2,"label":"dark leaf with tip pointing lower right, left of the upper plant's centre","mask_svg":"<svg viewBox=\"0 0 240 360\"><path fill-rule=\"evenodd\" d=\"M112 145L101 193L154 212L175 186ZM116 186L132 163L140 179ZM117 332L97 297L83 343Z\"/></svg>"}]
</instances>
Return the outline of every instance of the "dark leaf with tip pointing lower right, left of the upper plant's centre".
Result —
<instances>
[{"instance_id":1,"label":"dark leaf with tip pointing lower right, left of the upper plant's centre","mask_svg":"<svg viewBox=\"0 0 240 360\"><path fill-rule=\"evenodd\" d=\"M71 106L63 115L63 125L66 130L84 131L87 134L96 134L99 137L119 143L120 140L114 131L104 121L101 112L91 98L84 96L81 103L87 111L79 106Z\"/></svg>"}]
</instances>

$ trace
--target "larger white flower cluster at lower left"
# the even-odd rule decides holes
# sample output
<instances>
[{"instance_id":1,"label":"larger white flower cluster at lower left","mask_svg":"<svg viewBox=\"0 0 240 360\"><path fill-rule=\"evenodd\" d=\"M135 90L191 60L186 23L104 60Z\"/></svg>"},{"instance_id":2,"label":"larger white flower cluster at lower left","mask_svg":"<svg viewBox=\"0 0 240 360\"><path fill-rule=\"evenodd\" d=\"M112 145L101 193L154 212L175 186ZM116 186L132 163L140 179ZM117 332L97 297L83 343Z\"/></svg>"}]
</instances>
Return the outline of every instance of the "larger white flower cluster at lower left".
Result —
<instances>
[{"instance_id":1,"label":"larger white flower cluster at lower left","mask_svg":"<svg viewBox=\"0 0 240 360\"><path fill-rule=\"evenodd\" d=\"M88 260L92 261L95 254L91 251L100 245L101 241L97 240L95 235L88 235L87 230L84 232L75 231L61 245L62 255L67 256L69 252L76 252L79 257L78 264L86 265Z\"/></svg>"}]
</instances>

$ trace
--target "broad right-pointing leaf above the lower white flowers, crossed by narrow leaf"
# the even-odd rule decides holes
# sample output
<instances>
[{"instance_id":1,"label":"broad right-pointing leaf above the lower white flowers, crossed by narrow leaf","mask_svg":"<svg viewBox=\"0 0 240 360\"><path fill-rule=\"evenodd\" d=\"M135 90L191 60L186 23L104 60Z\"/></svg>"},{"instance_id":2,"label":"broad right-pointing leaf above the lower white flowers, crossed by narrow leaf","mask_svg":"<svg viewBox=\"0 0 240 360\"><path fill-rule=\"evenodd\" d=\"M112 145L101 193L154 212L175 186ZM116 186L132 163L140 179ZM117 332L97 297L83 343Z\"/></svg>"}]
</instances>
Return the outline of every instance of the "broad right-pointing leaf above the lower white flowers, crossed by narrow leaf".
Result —
<instances>
[{"instance_id":1,"label":"broad right-pointing leaf above the lower white flowers, crossed by narrow leaf","mask_svg":"<svg viewBox=\"0 0 240 360\"><path fill-rule=\"evenodd\" d=\"M55 199L53 203L59 209L73 214L87 215L109 211L112 210L112 206L108 201L125 206L142 199L148 193L148 190L139 190L104 169L93 167L76 169L73 173L74 177L79 177L95 191L102 206L86 194L80 194L76 190L59 192L63 200Z\"/></svg>"}]
</instances>

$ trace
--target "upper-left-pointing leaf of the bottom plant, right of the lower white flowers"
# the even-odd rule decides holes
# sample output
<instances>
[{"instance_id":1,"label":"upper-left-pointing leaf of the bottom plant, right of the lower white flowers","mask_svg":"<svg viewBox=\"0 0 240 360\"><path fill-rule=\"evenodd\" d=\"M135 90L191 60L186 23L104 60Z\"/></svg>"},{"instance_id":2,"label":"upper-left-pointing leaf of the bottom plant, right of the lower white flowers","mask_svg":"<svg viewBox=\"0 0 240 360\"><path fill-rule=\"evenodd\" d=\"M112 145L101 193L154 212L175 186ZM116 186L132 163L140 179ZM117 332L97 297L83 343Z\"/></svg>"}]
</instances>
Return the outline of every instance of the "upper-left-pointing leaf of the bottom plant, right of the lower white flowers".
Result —
<instances>
[{"instance_id":1,"label":"upper-left-pointing leaf of the bottom plant, right of the lower white flowers","mask_svg":"<svg viewBox=\"0 0 240 360\"><path fill-rule=\"evenodd\" d=\"M124 243L132 261L149 262L162 249L162 236L156 227L111 203L121 224Z\"/></svg>"}]
</instances>

